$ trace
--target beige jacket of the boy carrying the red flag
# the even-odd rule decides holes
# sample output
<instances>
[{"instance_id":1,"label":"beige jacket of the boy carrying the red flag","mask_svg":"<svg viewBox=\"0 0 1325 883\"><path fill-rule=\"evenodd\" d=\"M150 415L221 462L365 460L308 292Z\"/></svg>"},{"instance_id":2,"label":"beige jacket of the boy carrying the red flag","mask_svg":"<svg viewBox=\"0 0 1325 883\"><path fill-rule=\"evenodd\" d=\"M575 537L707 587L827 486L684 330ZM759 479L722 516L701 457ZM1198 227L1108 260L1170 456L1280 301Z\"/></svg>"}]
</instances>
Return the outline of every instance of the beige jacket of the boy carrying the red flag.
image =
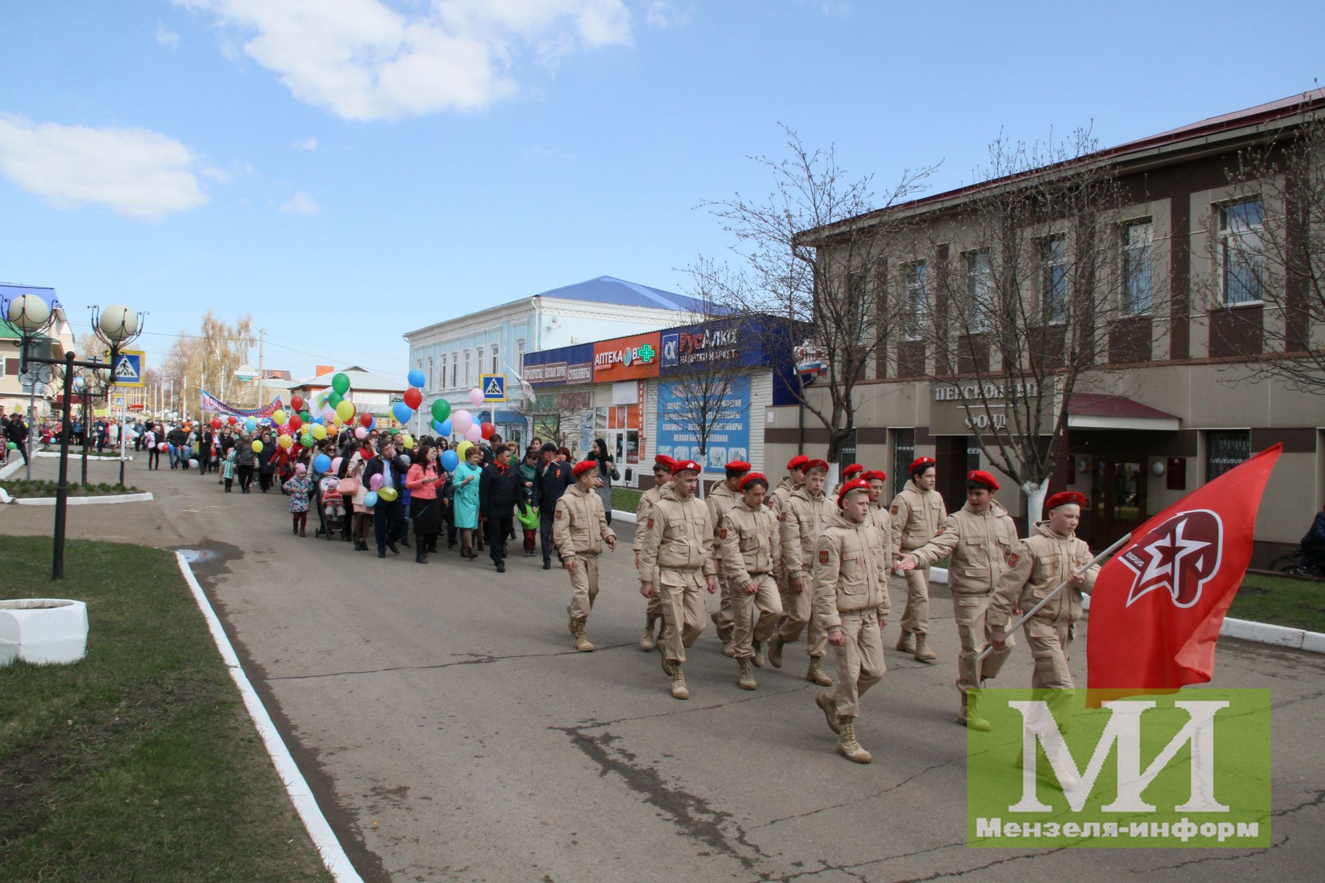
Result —
<instances>
[{"instance_id":1,"label":"beige jacket of the boy carrying the red flag","mask_svg":"<svg viewBox=\"0 0 1325 883\"><path fill-rule=\"evenodd\" d=\"M1048 522L1035 526L1030 539L1019 540L1008 557L1007 571L999 580L986 622L991 629L1007 625L1014 608L1030 610L1060 582L1090 563L1090 547L1075 534L1055 534ZM1036 612L1035 618L1053 625L1069 625L1081 618L1081 592L1094 588L1100 565L1085 572L1085 584L1067 586Z\"/></svg>"}]
</instances>

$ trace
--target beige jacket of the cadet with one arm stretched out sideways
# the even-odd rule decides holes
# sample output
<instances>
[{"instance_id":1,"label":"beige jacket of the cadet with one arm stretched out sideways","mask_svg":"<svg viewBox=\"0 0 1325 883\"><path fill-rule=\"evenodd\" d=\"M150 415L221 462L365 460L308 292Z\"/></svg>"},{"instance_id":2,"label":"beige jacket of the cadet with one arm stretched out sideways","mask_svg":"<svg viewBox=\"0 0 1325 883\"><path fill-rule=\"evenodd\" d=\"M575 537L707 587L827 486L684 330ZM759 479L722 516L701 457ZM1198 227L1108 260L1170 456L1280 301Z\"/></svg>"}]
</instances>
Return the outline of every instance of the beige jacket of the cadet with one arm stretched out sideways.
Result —
<instances>
[{"instance_id":1,"label":"beige jacket of the cadet with one arm stretched out sideways","mask_svg":"<svg viewBox=\"0 0 1325 883\"><path fill-rule=\"evenodd\" d=\"M973 512L970 503L953 512L939 526L934 539L912 549L918 567L930 567L945 555L947 588L953 594L987 594L998 586L1016 545L1016 524L994 500L984 512Z\"/></svg>"}]
</instances>

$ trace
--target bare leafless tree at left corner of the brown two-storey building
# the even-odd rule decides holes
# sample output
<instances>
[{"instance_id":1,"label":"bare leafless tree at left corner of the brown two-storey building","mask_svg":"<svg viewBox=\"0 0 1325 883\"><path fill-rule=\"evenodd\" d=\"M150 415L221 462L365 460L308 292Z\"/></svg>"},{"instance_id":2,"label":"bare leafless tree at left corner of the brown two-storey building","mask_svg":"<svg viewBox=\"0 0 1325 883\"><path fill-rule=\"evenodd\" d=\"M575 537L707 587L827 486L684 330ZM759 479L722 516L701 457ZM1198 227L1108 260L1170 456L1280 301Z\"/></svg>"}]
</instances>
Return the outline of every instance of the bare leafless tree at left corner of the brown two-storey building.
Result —
<instances>
[{"instance_id":1,"label":"bare leafless tree at left corner of the brown two-storey building","mask_svg":"<svg viewBox=\"0 0 1325 883\"><path fill-rule=\"evenodd\" d=\"M768 351L806 343L822 353L824 372L815 389L823 393L804 387L794 393L828 432L828 461L836 463L855 432L856 384L869 375L884 344L873 282L906 225L888 209L924 189L937 167L902 171L880 197L872 176L847 179L833 147L810 150L796 132L782 128L786 159L750 158L774 179L767 197L737 193L704 203L735 236L733 250L742 265L701 261L692 275L731 314L784 318L763 328ZM792 330L808 334L798 339Z\"/></svg>"}]
</instances>

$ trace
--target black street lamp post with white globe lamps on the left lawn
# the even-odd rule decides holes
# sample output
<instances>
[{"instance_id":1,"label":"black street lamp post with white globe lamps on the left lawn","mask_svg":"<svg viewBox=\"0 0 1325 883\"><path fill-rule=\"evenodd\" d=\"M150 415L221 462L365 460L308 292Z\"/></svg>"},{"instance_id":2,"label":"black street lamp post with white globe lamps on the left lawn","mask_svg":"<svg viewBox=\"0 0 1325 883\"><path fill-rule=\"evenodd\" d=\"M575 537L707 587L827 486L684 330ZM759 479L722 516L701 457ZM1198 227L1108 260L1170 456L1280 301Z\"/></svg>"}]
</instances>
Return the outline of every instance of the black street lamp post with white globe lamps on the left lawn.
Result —
<instances>
[{"instance_id":1,"label":"black street lamp post with white globe lamps on the left lawn","mask_svg":"<svg viewBox=\"0 0 1325 883\"><path fill-rule=\"evenodd\" d=\"M20 346L19 371L26 371L28 363L64 367L64 417L60 422L60 483L56 487L56 536L52 549L50 575L57 580L65 576L65 523L69 508L69 436L73 426L72 398L74 368L114 372L121 347L132 343L142 334L143 312L134 312L123 304L113 304L105 310L93 307L91 326L97 336L110 348L110 361L78 361L73 352L64 359L42 359L30 352L33 339L41 336L56 320L54 310L58 302L46 303L36 294L5 298L0 302L0 322L4 322L17 336ZM109 377L113 383L114 377ZM109 385L107 383L107 385Z\"/></svg>"}]
</instances>

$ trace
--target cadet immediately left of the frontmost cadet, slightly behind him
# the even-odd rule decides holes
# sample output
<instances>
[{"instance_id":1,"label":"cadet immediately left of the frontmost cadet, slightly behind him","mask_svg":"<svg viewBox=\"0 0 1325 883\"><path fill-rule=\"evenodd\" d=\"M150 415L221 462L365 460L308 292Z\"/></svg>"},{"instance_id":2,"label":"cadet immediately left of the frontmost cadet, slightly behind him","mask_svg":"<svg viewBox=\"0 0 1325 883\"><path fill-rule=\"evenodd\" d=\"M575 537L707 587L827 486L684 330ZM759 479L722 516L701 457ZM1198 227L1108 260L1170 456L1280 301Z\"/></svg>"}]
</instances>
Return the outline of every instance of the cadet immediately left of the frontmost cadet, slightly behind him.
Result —
<instances>
[{"instance_id":1,"label":"cadet immediately left of the frontmost cadet, slightly behind him","mask_svg":"<svg viewBox=\"0 0 1325 883\"><path fill-rule=\"evenodd\" d=\"M837 511L832 500L824 496L824 482L828 481L828 463L822 459L806 461L800 466L804 483L791 492L787 510L782 514L782 569L787 580L787 592L782 596L782 624L778 633L768 641L768 662L774 669L782 667L782 647L794 643L802 629L810 626L806 641L810 650L810 667L806 680L827 687L832 679L824 674L823 658L828 653L828 642L815 621L810 568L814 564L815 544L824 524L831 522Z\"/></svg>"}]
</instances>

